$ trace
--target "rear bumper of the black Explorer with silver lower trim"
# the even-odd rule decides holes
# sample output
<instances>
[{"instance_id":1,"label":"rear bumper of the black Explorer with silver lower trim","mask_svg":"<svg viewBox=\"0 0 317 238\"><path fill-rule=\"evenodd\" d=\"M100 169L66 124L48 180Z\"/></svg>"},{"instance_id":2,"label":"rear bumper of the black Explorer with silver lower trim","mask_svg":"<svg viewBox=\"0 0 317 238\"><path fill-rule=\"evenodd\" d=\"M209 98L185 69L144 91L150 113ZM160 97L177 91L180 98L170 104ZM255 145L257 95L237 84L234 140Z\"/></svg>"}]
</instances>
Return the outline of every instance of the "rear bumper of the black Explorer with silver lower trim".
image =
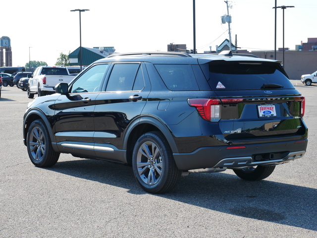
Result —
<instances>
[{"instance_id":1,"label":"rear bumper of the black Explorer with silver lower trim","mask_svg":"<svg viewBox=\"0 0 317 238\"><path fill-rule=\"evenodd\" d=\"M179 170L205 168L244 168L257 165L278 165L302 158L307 139L245 145L245 148L228 149L228 146L203 147L192 153L174 153ZM263 156L263 158L261 158Z\"/></svg>"}]
</instances>

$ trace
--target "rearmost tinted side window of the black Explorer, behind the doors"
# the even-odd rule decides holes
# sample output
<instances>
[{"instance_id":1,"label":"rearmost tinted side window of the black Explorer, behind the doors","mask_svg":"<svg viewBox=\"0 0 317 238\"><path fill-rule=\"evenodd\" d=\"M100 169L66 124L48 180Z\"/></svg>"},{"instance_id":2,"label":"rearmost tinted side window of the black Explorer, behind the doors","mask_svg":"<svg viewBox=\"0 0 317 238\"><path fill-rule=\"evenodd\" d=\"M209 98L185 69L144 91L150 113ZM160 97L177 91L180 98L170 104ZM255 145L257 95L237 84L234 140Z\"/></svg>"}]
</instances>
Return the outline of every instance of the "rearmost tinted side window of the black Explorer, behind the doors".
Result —
<instances>
[{"instance_id":1,"label":"rearmost tinted side window of the black Explorer, behind the doors","mask_svg":"<svg viewBox=\"0 0 317 238\"><path fill-rule=\"evenodd\" d=\"M171 91L197 91L199 87L190 64L156 64L160 77Z\"/></svg>"}]
</instances>

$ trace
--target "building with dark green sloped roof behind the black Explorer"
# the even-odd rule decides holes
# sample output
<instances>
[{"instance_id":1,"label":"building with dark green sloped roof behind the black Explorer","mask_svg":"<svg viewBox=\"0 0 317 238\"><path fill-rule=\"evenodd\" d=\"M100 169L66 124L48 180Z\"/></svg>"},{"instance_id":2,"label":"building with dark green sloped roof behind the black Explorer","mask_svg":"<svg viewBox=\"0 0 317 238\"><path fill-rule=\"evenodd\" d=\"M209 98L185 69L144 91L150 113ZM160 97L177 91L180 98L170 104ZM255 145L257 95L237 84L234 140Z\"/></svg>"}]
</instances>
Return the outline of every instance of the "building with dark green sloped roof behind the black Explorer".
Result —
<instances>
[{"instance_id":1,"label":"building with dark green sloped roof behind the black Explorer","mask_svg":"<svg viewBox=\"0 0 317 238\"><path fill-rule=\"evenodd\" d=\"M68 55L69 65L70 66L78 66L80 65L79 60L79 47ZM115 52L114 47L94 47L87 48L82 47L82 65L88 66L89 64L95 62L96 60L100 60L106 58L108 55L111 55Z\"/></svg>"}]
</instances>

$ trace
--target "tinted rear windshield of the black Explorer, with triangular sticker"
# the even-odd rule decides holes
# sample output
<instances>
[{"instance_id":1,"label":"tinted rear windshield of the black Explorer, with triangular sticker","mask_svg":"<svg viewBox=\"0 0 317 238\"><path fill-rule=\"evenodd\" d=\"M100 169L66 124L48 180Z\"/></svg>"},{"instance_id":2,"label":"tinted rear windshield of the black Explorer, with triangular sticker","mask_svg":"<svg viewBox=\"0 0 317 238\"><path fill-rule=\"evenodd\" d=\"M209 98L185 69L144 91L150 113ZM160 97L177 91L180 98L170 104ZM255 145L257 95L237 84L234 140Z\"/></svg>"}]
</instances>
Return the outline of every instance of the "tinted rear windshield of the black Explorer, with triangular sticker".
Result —
<instances>
[{"instance_id":1,"label":"tinted rear windshield of the black Explorer, with triangular sticker","mask_svg":"<svg viewBox=\"0 0 317 238\"><path fill-rule=\"evenodd\" d=\"M209 63L208 82L212 90L294 89L276 62Z\"/></svg>"}]
</instances>

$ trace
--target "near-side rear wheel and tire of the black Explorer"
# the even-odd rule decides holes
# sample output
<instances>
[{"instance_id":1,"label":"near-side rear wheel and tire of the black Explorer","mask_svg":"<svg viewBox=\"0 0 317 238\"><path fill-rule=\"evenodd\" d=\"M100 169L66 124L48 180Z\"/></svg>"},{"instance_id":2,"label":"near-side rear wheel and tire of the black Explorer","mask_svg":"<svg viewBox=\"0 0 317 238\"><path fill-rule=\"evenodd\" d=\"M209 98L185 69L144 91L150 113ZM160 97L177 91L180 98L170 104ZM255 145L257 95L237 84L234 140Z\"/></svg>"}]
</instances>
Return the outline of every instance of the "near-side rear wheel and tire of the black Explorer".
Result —
<instances>
[{"instance_id":1,"label":"near-side rear wheel and tire of the black Explorer","mask_svg":"<svg viewBox=\"0 0 317 238\"><path fill-rule=\"evenodd\" d=\"M132 168L140 186L150 193L168 192L181 176L165 137L158 131L145 133L137 140Z\"/></svg>"}]
</instances>

